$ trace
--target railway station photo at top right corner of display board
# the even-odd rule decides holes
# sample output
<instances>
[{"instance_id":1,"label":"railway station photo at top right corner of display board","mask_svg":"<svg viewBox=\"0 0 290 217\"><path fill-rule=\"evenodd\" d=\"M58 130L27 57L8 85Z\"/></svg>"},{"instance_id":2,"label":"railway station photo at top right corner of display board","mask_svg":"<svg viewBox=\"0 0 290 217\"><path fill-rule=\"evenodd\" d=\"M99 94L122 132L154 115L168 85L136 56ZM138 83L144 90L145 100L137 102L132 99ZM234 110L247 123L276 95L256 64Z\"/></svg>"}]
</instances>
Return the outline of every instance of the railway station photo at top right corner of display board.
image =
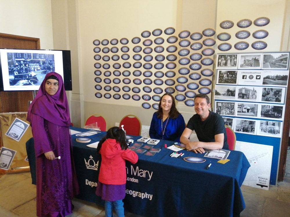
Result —
<instances>
[{"instance_id":1,"label":"railway station photo at top right corner of display board","mask_svg":"<svg viewBox=\"0 0 290 217\"><path fill-rule=\"evenodd\" d=\"M262 69L287 70L289 66L289 52L263 53Z\"/></svg>"}]
</instances>

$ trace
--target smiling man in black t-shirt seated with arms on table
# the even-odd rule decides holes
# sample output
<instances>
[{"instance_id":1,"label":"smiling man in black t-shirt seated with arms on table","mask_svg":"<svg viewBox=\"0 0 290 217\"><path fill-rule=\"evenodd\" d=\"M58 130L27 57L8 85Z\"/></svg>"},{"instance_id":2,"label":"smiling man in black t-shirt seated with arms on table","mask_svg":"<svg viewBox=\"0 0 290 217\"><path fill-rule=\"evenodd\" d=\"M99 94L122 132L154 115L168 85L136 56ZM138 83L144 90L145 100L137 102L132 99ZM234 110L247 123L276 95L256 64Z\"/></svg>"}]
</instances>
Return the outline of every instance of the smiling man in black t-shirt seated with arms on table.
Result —
<instances>
[{"instance_id":1,"label":"smiling man in black t-shirt seated with arms on table","mask_svg":"<svg viewBox=\"0 0 290 217\"><path fill-rule=\"evenodd\" d=\"M194 99L193 115L184 129L180 142L186 145L186 149L195 153L204 153L206 149L228 149L224 119L217 113L209 111L211 106L209 97L197 94ZM195 131L199 141L190 141L191 133Z\"/></svg>"}]
</instances>

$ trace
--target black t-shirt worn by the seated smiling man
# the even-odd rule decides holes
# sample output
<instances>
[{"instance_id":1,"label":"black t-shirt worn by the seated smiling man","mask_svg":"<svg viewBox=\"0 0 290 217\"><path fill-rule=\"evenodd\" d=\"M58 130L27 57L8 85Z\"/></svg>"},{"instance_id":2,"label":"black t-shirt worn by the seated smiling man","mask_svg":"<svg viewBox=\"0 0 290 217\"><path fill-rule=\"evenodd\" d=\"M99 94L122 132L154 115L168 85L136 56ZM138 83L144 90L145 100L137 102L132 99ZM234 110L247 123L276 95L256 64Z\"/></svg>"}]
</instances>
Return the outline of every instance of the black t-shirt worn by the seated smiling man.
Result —
<instances>
[{"instance_id":1,"label":"black t-shirt worn by the seated smiling man","mask_svg":"<svg viewBox=\"0 0 290 217\"><path fill-rule=\"evenodd\" d=\"M209 111L209 117L204 121L201 121L200 116L195 114L189 119L186 127L194 130L198 140L201 142L214 142L215 135L223 133L224 146L222 148L229 149L224 119L219 114Z\"/></svg>"}]
</instances>

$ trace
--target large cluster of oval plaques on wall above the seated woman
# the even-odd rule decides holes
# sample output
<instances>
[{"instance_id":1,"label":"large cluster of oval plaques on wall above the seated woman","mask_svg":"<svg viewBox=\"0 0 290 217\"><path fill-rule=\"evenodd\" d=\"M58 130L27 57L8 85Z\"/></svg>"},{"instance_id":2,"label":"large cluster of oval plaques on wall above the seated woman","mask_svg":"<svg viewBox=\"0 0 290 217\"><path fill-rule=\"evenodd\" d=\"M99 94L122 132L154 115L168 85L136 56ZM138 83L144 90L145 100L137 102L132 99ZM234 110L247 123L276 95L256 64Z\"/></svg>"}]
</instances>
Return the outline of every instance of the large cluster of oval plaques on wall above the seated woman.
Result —
<instances>
[{"instance_id":1,"label":"large cluster of oval plaques on wall above the seated woman","mask_svg":"<svg viewBox=\"0 0 290 217\"><path fill-rule=\"evenodd\" d=\"M166 84L169 87L166 87L164 89L164 92L166 93L175 93L175 91L180 91L180 92L185 92L184 94L177 94L175 96L175 99L178 101L184 101L185 100L185 104L187 106L193 106L193 98L195 97L195 95L198 93L204 93L204 94L208 94L211 92L211 89L209 86L212 84L212 81L210 79L201 79L201 75L203 76L212 76L213 75L213 70L212 69L202 69L202 71L200 73L197 72L193 72L190 73L190 69L191 70L200 70L202 68L202 65L205 66L209 66L212 65L214 60L212 58L209 58L208 56L211 56L215 53L215 50L213 48L210 48L210 46L215 45L215 39L213 38L205 38L202 43L200 42L193 42L191 44L191 42L186 39L186 38L190 38L193 41L198 41L200 39L203 38L203 36L206 37L211 37L215 35L215 30L211 29L211 28L207 28L205 30L202 31L202 33L200 32L194 32L194 33L190 33L187 30L184 30L182 32L180 32L178 34L177 38L176 36L171 36L173 33L175 33L175 29L173 27L168 27L164 30L164 33L166 35L169 35L168 38L166 39L166 41L170 44L174 44L176 43L179 39L179 46L181 47L181 49L178 51L178 55L181 56L181 58L178 60L179 64L184 66L182 68L180 68L178 70L178 73L180 73L181 76L179 76L176 81L178 82L178 84L175 84L175 80L171 79L173 77L175 77L176 73L175 71L172 71L172 69L176 68L176 63L173 62L175 60L177 60L177 56L174 54L168 54L166 57L164 55L162 55L161 53L165 51L165 48L162 46L162 44L165 42L165 39L162 37L158 37L162 34L162 30L161 29L155 29L152 31L152 35L153 36L157 36L157 38L154 39L154 41L152 41L151 39L149 39L148 37L151 36L151 32L150 31L144 31L141 33L141 36L143 38L145 38L145 40L143 41L143 45L146 46L143 49L143 53L145 54L143 57L142 55L139 53L142 51L142 47L137 45L139 44L142 40L139 37L134 37L132 38L131 42L133 44L135 44L136 46L133 47L133 52L135 52L136 54L133 55L133 59L136 61L134 63L130 63L130 62L124 62L122 65L119 63L114 63L112 65L113 67L113 75L116 76L116 78L113 78L113 80L111 80L110 77L112 75L112 72L109 71L108 69L110 69L110 64L108 63L104 63L103 65L101 65L100 63L95 63L95 68L97 70L95 70L95 75L97 76L95 78L95 82L97 82L98 84L95 85L95 89L100 91L103 89L103 87L99 84L101 82L104 82L106 84L106 86L104 87L105 91L111 91L113 90L114 94L111 93L105 93L104 95L100 92L95 93L95 96L97 98L106 98L106 99L110 99L110 98L114 98L114 99L133 99L136 101L139 100L144 100L144 101L149 101L149 100L154 100L156 103L152 104L152 107L154 109L158 109L158 102L160 101L160 94L163 93L163 89L158 87L162 84ZM109 61L110 59L112 59L113 61L118 61L120 59L120 56L117 55L116 53L119 52L119 48L114 46L117 45L118 43L121 43L122 46L120 48L120 51L123 52L124 54L121 55L121 58L123 60L128 60L130 58L130 55L127 54L126 52L128 52L130 50L130 48L128 46L126 46L129 43L129 40L127 38L122 38L120 39L120 41L116 38L112 39L112 40L108 40L108 39L104 39L102 41L100 40L94 40L93 44L98 46L100 44L102 44L103 46L107 46L109 45L109 43L111 45L113 45L113 47L109 48L109 47L104 47L103 49L101 49L100 47L95 47L94 48L94 52L97 53L94 56L95 60L104 60L105 62ZM154 48L149 47L153 44L153 42L157 45ZM192 53L189 58L186 57L188 56L191 51L189 49L187 49L186 47L190 47L191 50L193 51L197 51L200 50L203 46L206 46L204 49L202 49L201 54L200 53ZM151 55L151 53L156 52L157 55L155 57L153 57ZM103 52L104 54L107 54L109 52L112 52L113 55L110 57L108 55L104 55L103 57L101 55L99 55L99 52ZM166 48L166 51L168 53L173 53L177 51L177 47L175 45L169 45ZM205 56L204 58L202 58L203 56ZM142 63L139 62L139 60L143 60L145 61L145 63L143 64L143 68L145 69L145 71L142 73L142 71L139 70L140 67L142 67ZM150 61L153 60L153 58L158 61L154 66L150 63ZM170 62L167 62L166 64L162 63L162 61L164 60L168 60ZM192 61L200 61L199 62L193 62L192 64L190 64L190 62ZM188 65L186 67L186 65ZM118 69L120 69L121 67L124 67L125 70L123 72L119 71ZM103 75L107 78L104 78L102 80L102 78L100 78L99 76L102 75L102 71L99 70L101 67L103 67L106 71L103 72ZM134 71L131 73L130 68L134 67ZM153 76L153 72L150 71L151 68L155 68L157 70L161 70L164 67L166 67L167 69L169 69L168 71L166 71L165 73L163 71L156 71L154 73L154 76L156 77L156 79L151 80L151 76ZM190 73L190 74L189 74ZM145 77L143 80L141 80L140 78L134 78L133 80L131 80L130 78L128 78L128 76L130 76L131 74L133 74L133 76L135 77L139 77L143 74L143 76ZM184 75L189 74L188 78L185 77ZM117 78L119 76L123 75L125 78L123 78L122 80L120 78ZM162 80L161 78L166 76L167 79ZM184 86L189 79L193 80L193 81L197 81L200 80L198 83L197 82L189 82L186 87ZM111 84L113 82L113 87L111 87L108 84ZM119 86L114 86L114 84L120 84L121 82L123 82L125 84L125 86L122 87L122 90L126 93L124 94L119 94L118 92L121 91L121 88ZM130 84L131 82L133 82L135 85L140 85L142 84L142 82L146 85L144 87L133 87L131 89L131 87L127 86L127 84ZM152 89L152 87L148 86L151 84L155 84L155 88ZM184 85L183 85L184 84ZM200 87L203 86L203 87ZM145 92L145 94L138 95L138 93L141 92L141 89ZM186 91L186 89L188 89ZM195 90L195 91L194 91ZM133 95L131 96L128 92L132 91ZM149 95L148 93L151 93L153 91L153 93L155 93L155 95L153 95L151 97L151 95ZM188 100L186 100L186 97L189 98ZM142 107L143 108L151 108L151 104L148 102L144 102L142 103Z\"/></svg>"}]
</instances>

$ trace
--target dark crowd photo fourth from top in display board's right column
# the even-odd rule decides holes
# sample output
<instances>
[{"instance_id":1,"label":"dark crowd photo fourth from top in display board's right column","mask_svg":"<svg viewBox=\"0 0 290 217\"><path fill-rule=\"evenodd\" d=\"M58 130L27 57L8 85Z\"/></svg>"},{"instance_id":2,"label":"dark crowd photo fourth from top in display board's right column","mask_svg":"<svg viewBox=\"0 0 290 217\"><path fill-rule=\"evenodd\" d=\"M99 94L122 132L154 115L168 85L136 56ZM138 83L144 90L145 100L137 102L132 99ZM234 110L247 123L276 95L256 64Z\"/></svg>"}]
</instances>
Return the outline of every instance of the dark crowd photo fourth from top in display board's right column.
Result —
<instances>
[{"instance_id":1,"label":"dark crowd photo fourth from top in display board's right column","mask_svg":"<svg viewBox=\"0 0 290 217\"><path fill-rule=\"evenodd\" d=\"M285 106L281 104L259 103L258 117L270 120L284 120Z\"/></svg>"}]
</instances>

